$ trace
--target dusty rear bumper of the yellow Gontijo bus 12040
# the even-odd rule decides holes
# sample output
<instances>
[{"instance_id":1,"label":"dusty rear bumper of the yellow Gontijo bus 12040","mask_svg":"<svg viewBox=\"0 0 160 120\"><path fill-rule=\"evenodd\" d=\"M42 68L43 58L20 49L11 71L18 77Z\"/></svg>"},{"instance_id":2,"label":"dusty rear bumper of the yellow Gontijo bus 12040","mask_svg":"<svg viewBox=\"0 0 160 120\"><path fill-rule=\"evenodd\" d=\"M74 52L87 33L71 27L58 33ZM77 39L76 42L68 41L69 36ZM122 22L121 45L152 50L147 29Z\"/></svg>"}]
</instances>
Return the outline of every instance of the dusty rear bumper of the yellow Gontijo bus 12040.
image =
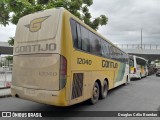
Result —
<instances>
[{"instance_id":1,"label":"dusty rear bumper of the yellow Gontijo bus 12040","mask_svg":"<svg viewBox=\"0 0 160 120\"><path fill-rule=\"evenodd\" d=\"M54 106L68 106L68 102L65 100L65 97L61 95L60 91L37 90L12 85L11 94L13 97L38 103Z\"/></svg>"}]
</instances>

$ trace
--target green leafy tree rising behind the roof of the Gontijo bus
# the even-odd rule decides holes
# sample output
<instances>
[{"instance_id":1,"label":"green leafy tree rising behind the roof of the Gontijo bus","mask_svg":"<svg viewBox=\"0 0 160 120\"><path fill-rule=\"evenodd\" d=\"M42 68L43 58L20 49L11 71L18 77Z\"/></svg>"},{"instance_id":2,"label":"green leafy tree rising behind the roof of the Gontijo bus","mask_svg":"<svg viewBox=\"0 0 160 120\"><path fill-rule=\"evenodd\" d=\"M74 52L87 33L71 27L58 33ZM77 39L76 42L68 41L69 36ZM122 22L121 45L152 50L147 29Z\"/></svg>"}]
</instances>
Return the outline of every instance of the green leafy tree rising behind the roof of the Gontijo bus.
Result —
<instances>
[{"instance_id":1,"label":"green leafy tree rising behind the roof of the Gontijo bus","mask_svg":"<svg viewBox=\"0 0 160 120\"><path fill-rule=\"evenodd\" d=\"M93 0L1 0L0 1L0 24L3 26L17 24L19 18L40 10L64 7L77 16L94 30L98 30L101 25L106 25L108 18L105 15L92 20L88 7L93 4ZM13 38L9 43L12 43Z\"/></svg>"}]
</instances>

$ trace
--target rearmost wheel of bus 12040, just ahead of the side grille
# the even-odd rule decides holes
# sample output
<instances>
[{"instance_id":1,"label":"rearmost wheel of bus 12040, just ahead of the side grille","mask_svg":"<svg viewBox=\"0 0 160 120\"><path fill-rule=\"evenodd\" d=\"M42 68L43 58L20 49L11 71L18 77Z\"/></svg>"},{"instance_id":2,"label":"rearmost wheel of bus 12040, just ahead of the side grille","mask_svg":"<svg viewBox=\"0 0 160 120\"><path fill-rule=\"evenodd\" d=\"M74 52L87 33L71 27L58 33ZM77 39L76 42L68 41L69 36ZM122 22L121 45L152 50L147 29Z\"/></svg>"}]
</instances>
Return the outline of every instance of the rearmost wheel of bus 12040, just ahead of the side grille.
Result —
<instances>
[{"instance_id":1,"label":"rearmost wheel of bus 12040, just ahead of the side grille","mask_svg":"<svg viewBox=\"0 0 160 120\"><path fill-rule=\"evenodd\" d=\"M99 99L99 94L100 94L99 85L97 82L95 82L92 89L92 97L91 99L89 99L89 103L92 105L96 104Z\"/></svg>"}]
</instances>

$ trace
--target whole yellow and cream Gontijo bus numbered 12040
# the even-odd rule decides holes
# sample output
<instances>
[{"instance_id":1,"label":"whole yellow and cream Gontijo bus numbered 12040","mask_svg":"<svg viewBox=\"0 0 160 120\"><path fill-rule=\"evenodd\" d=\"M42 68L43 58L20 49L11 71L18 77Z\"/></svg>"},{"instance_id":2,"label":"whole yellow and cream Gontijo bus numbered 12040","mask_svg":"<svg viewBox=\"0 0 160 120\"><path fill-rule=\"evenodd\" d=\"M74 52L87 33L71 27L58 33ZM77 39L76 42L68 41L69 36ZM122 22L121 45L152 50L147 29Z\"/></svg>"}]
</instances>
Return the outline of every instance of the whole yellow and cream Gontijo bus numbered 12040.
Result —
<instances>
[{"instance_id":1,"label":"whole yellow and cream Gontijo bus numbered 12040","mask_svg":"<svg viewBox=\"0 0 160 120\"><path fill-rule=\"evenodd\" d=\"M36 12L17 25L12 96L55 106L95 104L129 82L128 58L64 8Z\"/></svg>"}]
</instances>

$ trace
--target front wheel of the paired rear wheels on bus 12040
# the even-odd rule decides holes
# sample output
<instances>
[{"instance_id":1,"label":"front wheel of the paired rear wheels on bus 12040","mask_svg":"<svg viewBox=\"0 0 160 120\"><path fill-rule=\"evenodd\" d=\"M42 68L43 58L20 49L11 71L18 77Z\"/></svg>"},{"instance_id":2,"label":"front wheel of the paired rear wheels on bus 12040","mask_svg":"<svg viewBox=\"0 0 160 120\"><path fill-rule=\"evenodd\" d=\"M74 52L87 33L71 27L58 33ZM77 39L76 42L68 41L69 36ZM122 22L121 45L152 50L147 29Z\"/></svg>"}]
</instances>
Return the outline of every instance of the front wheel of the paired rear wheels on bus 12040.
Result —
<instances>
[{"instance_id":1,"label":"front wheel of the paired rear wheels on bus 12040","mask_svg":"<svg viewBox=\"0 0 160 120\"><path fill-rule=\"evenodd\" d=\"M108 82L106 80L104 80L101 94L100 94L100 98L105 99L107 97L107 95L108 95Z\"/></svg>"}]
</instances>

